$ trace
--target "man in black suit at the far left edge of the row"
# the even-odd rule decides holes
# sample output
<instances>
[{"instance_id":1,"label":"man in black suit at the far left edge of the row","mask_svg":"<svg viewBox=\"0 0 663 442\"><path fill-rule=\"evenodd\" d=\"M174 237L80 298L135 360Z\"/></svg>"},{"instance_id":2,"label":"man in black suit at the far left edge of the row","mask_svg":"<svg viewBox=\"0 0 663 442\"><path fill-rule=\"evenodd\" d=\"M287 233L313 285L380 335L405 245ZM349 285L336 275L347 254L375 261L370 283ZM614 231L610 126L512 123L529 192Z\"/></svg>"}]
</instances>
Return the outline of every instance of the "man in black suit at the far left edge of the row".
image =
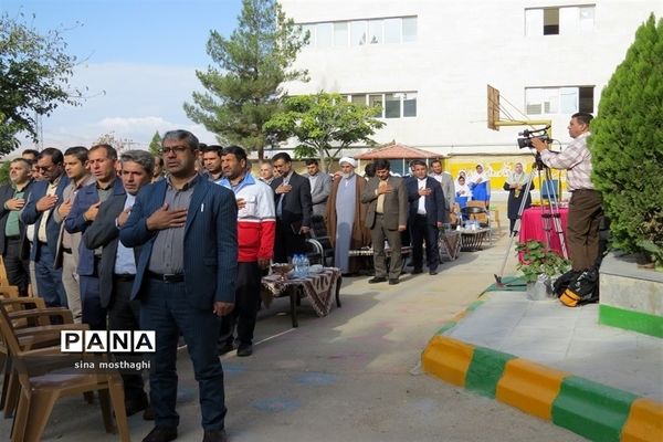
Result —
<instances>
[{"instance_id":1,"label":"man in black suit at the far left edge of the row","mask_svg":"<svg viewBox=\"0 0 663 442\"><path fill-rule=\"evenodd\" d=\"M25 206L25 197L32 183L32 165L17 158L9 165L11 185L0 187L0 253L11 285L19 287L20 296L28 296L30 283L30 261L25 224L20 211Z\"/></svg>"}]
</instances>

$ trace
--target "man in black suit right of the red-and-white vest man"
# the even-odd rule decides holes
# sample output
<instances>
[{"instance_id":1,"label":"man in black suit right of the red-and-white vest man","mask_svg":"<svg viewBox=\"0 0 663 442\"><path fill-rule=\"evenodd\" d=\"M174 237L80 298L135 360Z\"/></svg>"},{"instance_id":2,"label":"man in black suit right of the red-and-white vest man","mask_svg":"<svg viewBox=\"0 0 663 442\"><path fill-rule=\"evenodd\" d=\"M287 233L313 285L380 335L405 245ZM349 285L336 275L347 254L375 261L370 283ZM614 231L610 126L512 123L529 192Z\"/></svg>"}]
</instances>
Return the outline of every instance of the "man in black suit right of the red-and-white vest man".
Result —
<instances>
[{"instance_id":1,"label":"man in black suit right of the red-and-white vest man","mask_svg":"<svg viewBox=\"0 0 663 442\"><path fill-rule=\"evenodd\" d=\"M313 211L311 183L293 170L293 160L286 152L274 155L272 164L280 175L270 185L276 206L274 261L286 262L288 257L306 252Z\"/></svg>"}]
</instances>

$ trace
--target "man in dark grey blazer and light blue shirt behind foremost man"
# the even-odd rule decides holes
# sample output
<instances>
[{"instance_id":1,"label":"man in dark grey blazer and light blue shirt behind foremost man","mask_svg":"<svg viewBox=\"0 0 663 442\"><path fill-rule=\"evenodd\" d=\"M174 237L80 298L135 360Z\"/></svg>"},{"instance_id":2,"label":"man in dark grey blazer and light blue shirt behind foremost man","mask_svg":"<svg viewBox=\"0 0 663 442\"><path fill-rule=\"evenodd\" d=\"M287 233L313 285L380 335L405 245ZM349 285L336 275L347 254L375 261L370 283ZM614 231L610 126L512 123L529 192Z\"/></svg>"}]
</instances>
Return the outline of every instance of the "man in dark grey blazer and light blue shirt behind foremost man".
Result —
<instances>
[{"instance_id":1,"label":"man in dark grey blazer and light blue shirt behind foremost man","mask_svg":"<svg viewBox=\"0 0 663 442\"><path fill-rule=\"evenodd\" d=\"M139 330L140 304L130 301L130 296L140 249L125 248L119 242L119 229L129 218L140 188L151 181L155 159L148 151L128 150L122 155L120 162L125 192L110 196L99 206L94 222L83 234L83 243L90 250L103 248L99 297L102 307L108 312L108 329ZM128 359L129 355L125 357ZM147 409L148 400L140 373L123 373L122 378L127 415Z\"/></svg>"}]
</instances>

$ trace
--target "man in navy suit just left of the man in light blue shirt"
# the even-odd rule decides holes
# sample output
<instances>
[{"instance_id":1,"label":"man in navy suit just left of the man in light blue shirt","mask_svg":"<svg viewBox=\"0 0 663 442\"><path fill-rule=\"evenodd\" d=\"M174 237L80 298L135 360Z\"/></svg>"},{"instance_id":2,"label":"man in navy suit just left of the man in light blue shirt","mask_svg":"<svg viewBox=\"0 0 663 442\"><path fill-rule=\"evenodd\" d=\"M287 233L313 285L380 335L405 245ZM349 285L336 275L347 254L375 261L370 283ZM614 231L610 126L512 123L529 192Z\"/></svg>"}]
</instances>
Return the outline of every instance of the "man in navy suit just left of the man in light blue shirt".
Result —
<instances>
[{"instance_id":1,"label":"man in navy suit just left of the man in light blue shirt","mask_svg":"<svg viewBox=\"0 0 663 442\"><path fill-rule=\"evenodd\" d=\"M90 148L87 164L96 182L85 186L76 194L72 210L64 220L64 229L69 233L85 233L96 219L102 202L114 194L124 194L122 181L116 179L115 161L117 151L110 145L102 144ZM87 249L83 242L78 244L78 267L81 278L81 306L83 324L93 330L106 329L106 308L99 297L99 265L102 249Z\"/></svg>"}]
</instances>

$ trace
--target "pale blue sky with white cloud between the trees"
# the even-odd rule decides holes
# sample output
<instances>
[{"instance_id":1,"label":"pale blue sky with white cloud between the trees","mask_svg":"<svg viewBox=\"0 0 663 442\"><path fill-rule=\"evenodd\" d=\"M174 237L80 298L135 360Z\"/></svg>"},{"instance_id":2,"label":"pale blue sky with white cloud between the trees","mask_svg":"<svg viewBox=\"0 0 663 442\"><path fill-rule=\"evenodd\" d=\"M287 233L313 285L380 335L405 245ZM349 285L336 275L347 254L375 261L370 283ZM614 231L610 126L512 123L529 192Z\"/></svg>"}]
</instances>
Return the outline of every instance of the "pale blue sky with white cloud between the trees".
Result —
<instances>
[{"instance_id":1,"label":"pale blue sky with white cloud between the trees","mask_svg":"<svg viewBox=\"0 0 663 442\"><path fill-rule=\"evenodd\" d=\"M172 128L212 141L182 103L201 90L196 70L211 63L210 30L230 35L240 10L241 0L2 0L10 17L22 12L44 33L63 30L67 53L81 61L72 83L88 98L43 118L44 146L90 145L110 131L145 146L155 130Z\"/></svg>"}]
</instances>

